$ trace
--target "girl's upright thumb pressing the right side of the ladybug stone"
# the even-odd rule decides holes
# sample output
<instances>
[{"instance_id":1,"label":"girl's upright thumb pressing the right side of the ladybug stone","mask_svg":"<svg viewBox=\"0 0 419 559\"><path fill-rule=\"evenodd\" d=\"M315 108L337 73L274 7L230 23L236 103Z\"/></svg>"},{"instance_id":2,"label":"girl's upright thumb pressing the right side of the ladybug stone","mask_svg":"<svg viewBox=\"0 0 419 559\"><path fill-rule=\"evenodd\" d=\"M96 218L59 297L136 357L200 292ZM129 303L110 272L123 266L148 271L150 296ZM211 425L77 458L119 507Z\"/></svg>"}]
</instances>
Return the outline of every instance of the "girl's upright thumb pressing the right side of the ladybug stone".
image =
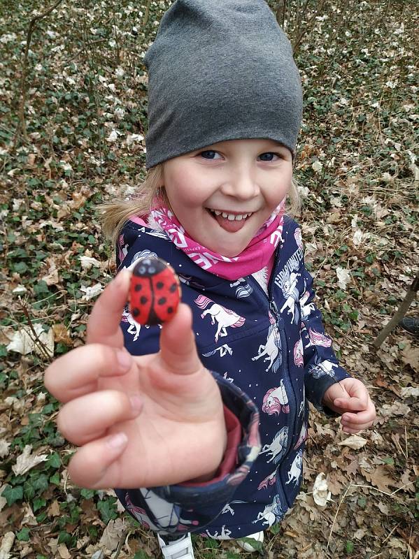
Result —
<instances>
[{"instance_id":1,"label":"girl's upright thumb pressing the right side of the ladybug stone","mask_svg":"<svg viewBox=\"0 0 419 559\"><path fill-rule=\"evenodd\" d=\"M192 312L185 303L180 303L175 317L162 328L160 356L178 375L191 375L202 367L192 331Z\"/></svg>"}]
</instances>

